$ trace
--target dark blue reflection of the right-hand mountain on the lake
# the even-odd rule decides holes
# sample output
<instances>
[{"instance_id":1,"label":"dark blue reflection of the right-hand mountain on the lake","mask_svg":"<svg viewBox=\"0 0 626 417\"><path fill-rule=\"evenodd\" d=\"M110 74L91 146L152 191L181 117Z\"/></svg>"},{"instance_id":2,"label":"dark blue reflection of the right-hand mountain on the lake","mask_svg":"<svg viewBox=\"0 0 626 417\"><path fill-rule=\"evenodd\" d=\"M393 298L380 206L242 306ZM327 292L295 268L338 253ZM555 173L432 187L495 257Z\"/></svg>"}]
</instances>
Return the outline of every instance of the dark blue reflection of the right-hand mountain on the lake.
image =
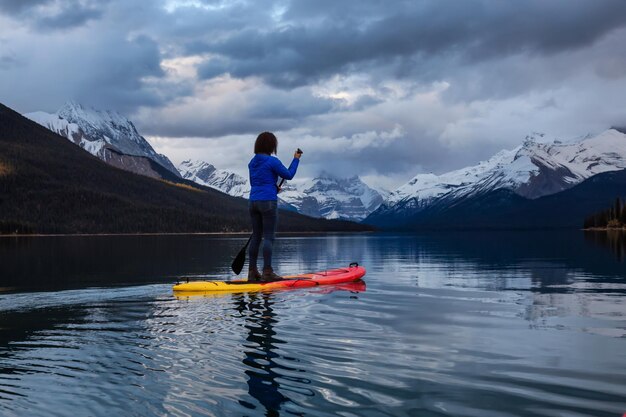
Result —
<instances>
[{"instance_id":1,"label":"dark blue reflection of the right-hand mountain on the lake","mask_svg":"<svg viewBox=\"0 0 626 417\"><path fill-rule=\"evenodd\" d=\"M338 250L345 251L341 246ZM602 246L586 241L580 231L381 234L355 242L351 250L361 254L357 259L364 259L366 266L422 269L422 283L439 279L433 268L440 268L445 280L458 276L468 283L471 275L481 280L471 285L494 290L523 286L542 292L570 285L574 279L597 284L625 278L624 264ZM314 248L308 253L319 256ZM522 283L523 278L528 281Z\"/></svg>"}]
</instances>

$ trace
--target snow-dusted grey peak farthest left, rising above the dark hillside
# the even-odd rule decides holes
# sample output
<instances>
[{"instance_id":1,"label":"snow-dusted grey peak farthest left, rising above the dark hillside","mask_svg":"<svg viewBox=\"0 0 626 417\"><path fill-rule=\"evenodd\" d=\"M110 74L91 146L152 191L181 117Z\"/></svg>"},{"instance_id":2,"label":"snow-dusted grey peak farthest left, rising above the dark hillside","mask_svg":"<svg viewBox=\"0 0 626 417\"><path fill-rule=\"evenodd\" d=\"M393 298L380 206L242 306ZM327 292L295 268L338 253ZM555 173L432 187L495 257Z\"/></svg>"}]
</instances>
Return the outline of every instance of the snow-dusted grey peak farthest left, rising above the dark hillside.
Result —
<instances>
[{"instance_id":1,"label":"snow-dusted grey peak farthest left, rising above the dark hillside","mask_svg":"<svg viewBox=\"0 0 626 417\"><path fill-rule=\"evenodd\" d=\"M161 178L150 161L179 177L178 170L158 154L135 125L114 111L100 111L68 102L56 113L34 112L24 116L66 137L81 148L118 168ZM156 168L156 169L155 169Z\"/></svg>"}]
</instances>

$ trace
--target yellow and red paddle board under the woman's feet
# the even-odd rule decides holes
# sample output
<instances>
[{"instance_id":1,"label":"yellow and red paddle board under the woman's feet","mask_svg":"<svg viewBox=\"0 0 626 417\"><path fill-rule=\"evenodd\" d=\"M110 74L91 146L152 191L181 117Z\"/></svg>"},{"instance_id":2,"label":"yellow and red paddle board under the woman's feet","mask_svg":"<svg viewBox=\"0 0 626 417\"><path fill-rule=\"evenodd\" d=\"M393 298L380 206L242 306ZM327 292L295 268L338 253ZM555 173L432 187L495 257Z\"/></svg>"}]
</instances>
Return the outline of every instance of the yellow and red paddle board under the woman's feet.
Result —
<instances>
[{"instance_id":1,"label":"yellow and red paddle board under the woman's feet","mask_svg":"<svg viewBox=\"0 0 626 417\"><path fill-rule=\"evenodd\" d=\"M175 292L209 292L209 291L265 291L289 288L316 287L318 285L334 285L355 282L365 275L365 268L351 263L347 268L329 269L309 274L289 275L281 281L191 281L174 285Z\"/></svg>"}]
</instances>

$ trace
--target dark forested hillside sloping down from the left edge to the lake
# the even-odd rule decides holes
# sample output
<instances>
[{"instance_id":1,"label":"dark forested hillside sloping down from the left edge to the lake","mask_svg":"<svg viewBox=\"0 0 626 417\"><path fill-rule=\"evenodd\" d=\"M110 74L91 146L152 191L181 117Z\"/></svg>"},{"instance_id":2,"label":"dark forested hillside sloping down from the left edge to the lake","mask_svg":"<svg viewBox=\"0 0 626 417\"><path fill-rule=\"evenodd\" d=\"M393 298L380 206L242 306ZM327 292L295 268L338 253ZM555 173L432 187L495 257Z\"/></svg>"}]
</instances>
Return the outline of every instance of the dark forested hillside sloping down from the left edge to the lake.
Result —
<instances>
[{"instance_id":1,"label":"dark forested hillside sloping down from the left edge to the lake","mask_svg":"<svg viewBox=\"0 0 626 417\"><path fill-rule=\"evenodd\" d=\"M113 168L0 105L0 233L233 232L247 202ZM281 212L282 231L365 230Z\"/></svg>"}]
</instances>

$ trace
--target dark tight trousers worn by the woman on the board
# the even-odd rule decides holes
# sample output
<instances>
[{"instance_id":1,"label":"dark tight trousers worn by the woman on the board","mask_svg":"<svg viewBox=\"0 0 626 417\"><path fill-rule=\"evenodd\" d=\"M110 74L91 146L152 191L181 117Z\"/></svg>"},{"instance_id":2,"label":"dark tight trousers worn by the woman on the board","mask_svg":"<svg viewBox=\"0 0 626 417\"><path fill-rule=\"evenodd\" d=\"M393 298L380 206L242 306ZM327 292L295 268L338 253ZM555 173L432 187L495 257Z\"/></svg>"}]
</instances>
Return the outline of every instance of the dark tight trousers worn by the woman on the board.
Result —
<instances>
[{"instance_id":1,"label":"dark tight trousers worn by the woman on the board","mask_svg":"<svg viewBox=\"0 0 626 417\"><path fill-rule=\"evenodd\" d=\"M276 235L278 220L278 204L276 200L250 201L250 217L252 218L252 239L248 249L250 268L257 267L259 247L263 239L263 269L272 266L272 249Z\"/></svg>"}]
</instances>

